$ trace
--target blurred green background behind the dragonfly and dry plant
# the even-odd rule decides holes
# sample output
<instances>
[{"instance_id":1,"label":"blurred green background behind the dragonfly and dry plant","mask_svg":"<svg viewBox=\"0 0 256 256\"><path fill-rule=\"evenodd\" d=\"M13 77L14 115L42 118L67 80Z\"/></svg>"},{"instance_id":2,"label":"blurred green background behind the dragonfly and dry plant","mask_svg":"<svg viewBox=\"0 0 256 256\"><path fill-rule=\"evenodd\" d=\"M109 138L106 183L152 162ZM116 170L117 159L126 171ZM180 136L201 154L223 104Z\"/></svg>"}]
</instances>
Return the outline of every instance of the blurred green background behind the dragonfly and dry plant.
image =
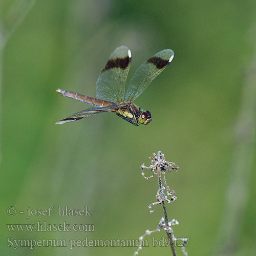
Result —
<instances>
[{"instance_id":1,"label":"blurred green background behind the dragonfly and dry plant","mask_svg":"<svg viewBox=\"0 0 256 256\"><path fill-rule=\"evenodd\" d=\"M144 180L140 169L159 150L180 167L167 174L178 197L167 210L169 220L180 223L175 236L190 238L188 254L255 255L255 14L252 0L2 0L3 255L133 255L135 247L14 249L7 238L138 239L163 217L161 206L153 214L147 208L157 179ZM175 52L135 101L153 121L136 127L105 113L54 125L89 106L55 90L94 97L97 76L120 45L133 53L128 80L156 52ZM6 213L9 206L26 212L50 205L52 217ZM88 206L92 216L57 217L59 205ZM6 226L37 221L94 224L95 232L11 232ZM170 255L169 247L148 241L139 255Z\"/></svg>"}]
</instances>

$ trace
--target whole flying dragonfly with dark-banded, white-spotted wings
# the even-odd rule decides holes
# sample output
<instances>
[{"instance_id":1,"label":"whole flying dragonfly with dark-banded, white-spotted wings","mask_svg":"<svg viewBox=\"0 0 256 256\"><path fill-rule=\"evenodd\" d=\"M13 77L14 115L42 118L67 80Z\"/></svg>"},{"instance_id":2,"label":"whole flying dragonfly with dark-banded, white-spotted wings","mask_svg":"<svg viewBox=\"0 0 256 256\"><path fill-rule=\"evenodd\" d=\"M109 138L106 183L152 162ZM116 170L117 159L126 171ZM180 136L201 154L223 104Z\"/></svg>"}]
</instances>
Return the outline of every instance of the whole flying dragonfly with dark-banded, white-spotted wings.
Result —
<instances>
[{"instance_id":1,"label":"whole flying dragonfly with dark-banded, white-spotted wings","mask_svg":"<svg viewBox=\"0 0 256 256\"><path fill-rule=\"evenodd\" d=\"M77 112L55 124L73 122L103 112L113 112L122 119L138 126L152 120L150 111L143 111L133 101L141 95L153 79L173 60L174 52L162 50L147 59L134 73L126 89L132 52L126 46L118 47L109 57L96 82L96 98L57 89L62 96L93 105L93 108Z\"/></svg>"}]
</instances>

